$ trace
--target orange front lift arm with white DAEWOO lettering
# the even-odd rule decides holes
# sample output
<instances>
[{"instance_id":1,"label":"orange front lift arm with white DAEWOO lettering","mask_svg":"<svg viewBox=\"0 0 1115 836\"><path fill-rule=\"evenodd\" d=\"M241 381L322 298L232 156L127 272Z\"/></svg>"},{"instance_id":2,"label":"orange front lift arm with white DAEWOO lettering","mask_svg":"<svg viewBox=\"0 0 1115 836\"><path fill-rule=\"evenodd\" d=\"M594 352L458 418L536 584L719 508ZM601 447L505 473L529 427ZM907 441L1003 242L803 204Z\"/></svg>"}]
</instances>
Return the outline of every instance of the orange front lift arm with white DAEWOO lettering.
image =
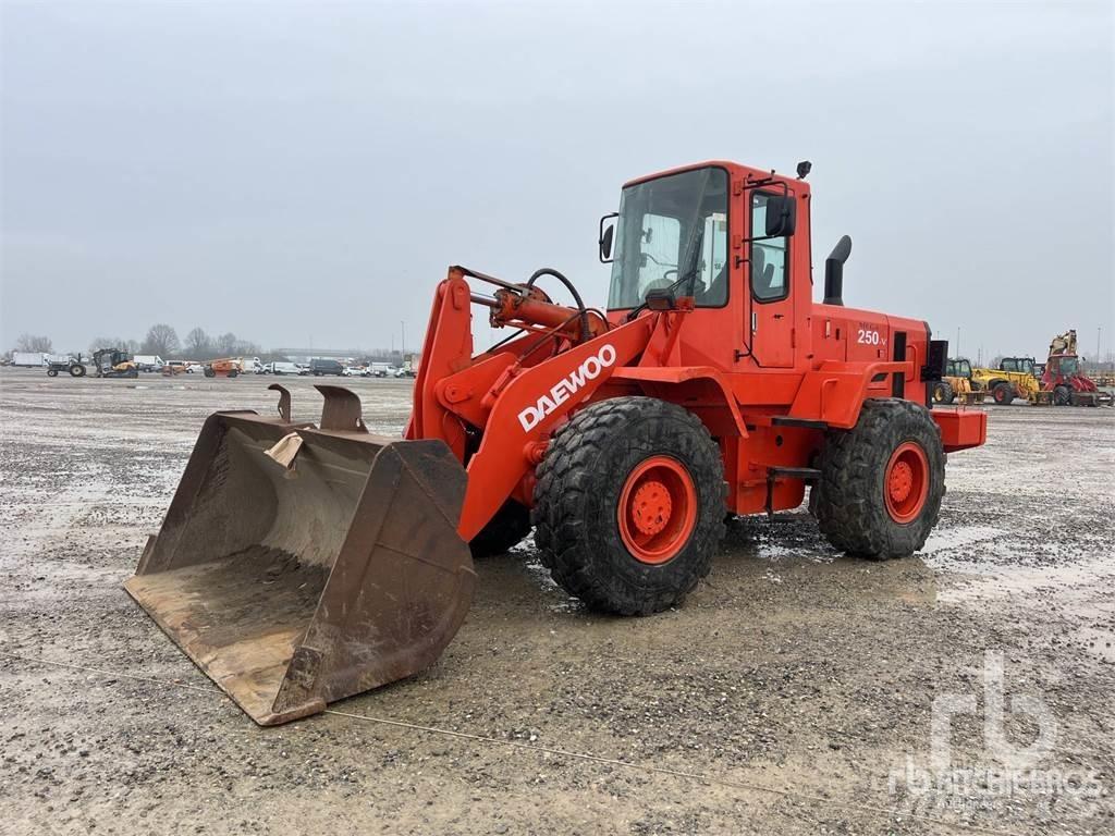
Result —
<instances>
[{"instance_id":1,"label":"orange front lift arm with white DAEWOO lettering","mask_svg":"<svg viewBox=\"0 0 1115 836\"><path fill-rule=\"evenodd\" d=\"M494 297L473 293L466 276L495 284ZM473 304L489 309L494 328L517 332L474 356ZM524 479L537 464L535 445L639 358L658 319L648 313L609 327L595 311L554 304L533 282L449 268L430 312L406 438L442 438L465 466L458 532L466 542L516 490L529 504Z\"/></svg>"}]
</instances>

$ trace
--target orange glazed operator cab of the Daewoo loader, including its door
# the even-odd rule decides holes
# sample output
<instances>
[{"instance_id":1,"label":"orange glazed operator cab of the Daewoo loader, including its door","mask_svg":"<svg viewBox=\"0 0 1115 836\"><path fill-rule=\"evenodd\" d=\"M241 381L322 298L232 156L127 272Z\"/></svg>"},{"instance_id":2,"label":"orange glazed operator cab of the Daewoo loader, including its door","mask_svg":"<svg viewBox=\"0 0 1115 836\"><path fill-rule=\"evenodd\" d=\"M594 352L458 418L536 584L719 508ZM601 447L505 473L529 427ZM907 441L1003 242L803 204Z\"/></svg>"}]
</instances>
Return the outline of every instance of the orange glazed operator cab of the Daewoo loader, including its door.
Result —
<instances>
[{"instance_id":1,"label":"orange glazed operator cab of the Daewoo loader, including its door","mask_svg":"<svg viewBox=\"0 0 1115 836\"><path fill-rule=\"evenodd\" d=\"M612 265L608 319L691 299L681 357L793 368L808 351L795 339L812 307L807 197L801 179L727 162L626 184L619 212L600 225L600 259Z\"/></svg>"}]
</instances>

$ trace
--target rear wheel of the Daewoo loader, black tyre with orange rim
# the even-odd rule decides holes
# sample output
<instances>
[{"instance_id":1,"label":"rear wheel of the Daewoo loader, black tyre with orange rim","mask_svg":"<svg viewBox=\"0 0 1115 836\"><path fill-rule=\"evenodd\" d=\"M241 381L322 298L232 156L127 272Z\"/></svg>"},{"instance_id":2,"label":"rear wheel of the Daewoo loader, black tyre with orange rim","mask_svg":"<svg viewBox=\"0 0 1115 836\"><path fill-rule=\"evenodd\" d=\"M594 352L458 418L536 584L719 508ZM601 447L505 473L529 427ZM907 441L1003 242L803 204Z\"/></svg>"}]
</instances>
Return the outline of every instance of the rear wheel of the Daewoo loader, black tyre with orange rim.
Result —
<instances>
[{"instance_id":1,"label":"rear wheel of the Daewoo loader, black tyre with orange rim","mask_svg":"<svg viewBox=\"0 0 1115 836\"><path fill-rule=\"evenodd\" d=\"M816 516L833 546L889 560L925 545L944 496L944 448L928 409L867 400L853 429L828 434L820 466Z\"/></svg>"}]
</instances>

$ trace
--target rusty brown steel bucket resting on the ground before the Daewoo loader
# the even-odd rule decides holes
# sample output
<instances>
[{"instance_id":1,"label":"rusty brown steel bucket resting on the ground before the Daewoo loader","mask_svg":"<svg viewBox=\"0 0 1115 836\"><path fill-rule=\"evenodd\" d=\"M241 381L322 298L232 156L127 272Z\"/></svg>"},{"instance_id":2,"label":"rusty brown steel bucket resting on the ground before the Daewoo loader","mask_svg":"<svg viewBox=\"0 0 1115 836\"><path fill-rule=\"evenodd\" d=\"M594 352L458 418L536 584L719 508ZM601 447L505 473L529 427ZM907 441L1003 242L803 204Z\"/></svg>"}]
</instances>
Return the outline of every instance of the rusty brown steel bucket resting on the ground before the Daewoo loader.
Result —
<instances>
[{"instance_id":1,"label":"rusty brown steel bucket resting on the ground before the Daewoo loader","mask_svg":"<svg viewBox=\"0 0 1115 836\"><path fill-rule=\"evenodd\" d=\"M369 435L340 387L321 427L210 416L158 535L124 586L270 726L409 677L456 634L475 574L465 472L439 440ZM282 443L282 444L280 444Z\"/></svg>"}]
</instances>

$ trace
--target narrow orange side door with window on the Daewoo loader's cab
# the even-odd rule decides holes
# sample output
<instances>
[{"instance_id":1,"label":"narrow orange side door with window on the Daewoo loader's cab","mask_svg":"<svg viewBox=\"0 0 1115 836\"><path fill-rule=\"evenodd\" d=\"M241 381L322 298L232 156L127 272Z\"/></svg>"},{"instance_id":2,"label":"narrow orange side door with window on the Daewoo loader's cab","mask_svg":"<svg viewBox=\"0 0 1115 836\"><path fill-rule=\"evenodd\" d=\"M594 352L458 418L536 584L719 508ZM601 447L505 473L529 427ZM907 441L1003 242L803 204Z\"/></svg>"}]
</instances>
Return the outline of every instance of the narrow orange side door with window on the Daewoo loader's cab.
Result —
<instances>
[{"instance_id":1,"label":"narrow orange side door with window on the Daewoo loader's cab","mask_svg":"<svg viewBox=\"0 0 1115 836\"><path fill-rule=\"evenodd\" d=\"M762 368L794 366L794 295L791 283L789 236L768 239L767 201L774 193L748 194L747 288L750 356Z\"/></svg>"}]
</instances>

